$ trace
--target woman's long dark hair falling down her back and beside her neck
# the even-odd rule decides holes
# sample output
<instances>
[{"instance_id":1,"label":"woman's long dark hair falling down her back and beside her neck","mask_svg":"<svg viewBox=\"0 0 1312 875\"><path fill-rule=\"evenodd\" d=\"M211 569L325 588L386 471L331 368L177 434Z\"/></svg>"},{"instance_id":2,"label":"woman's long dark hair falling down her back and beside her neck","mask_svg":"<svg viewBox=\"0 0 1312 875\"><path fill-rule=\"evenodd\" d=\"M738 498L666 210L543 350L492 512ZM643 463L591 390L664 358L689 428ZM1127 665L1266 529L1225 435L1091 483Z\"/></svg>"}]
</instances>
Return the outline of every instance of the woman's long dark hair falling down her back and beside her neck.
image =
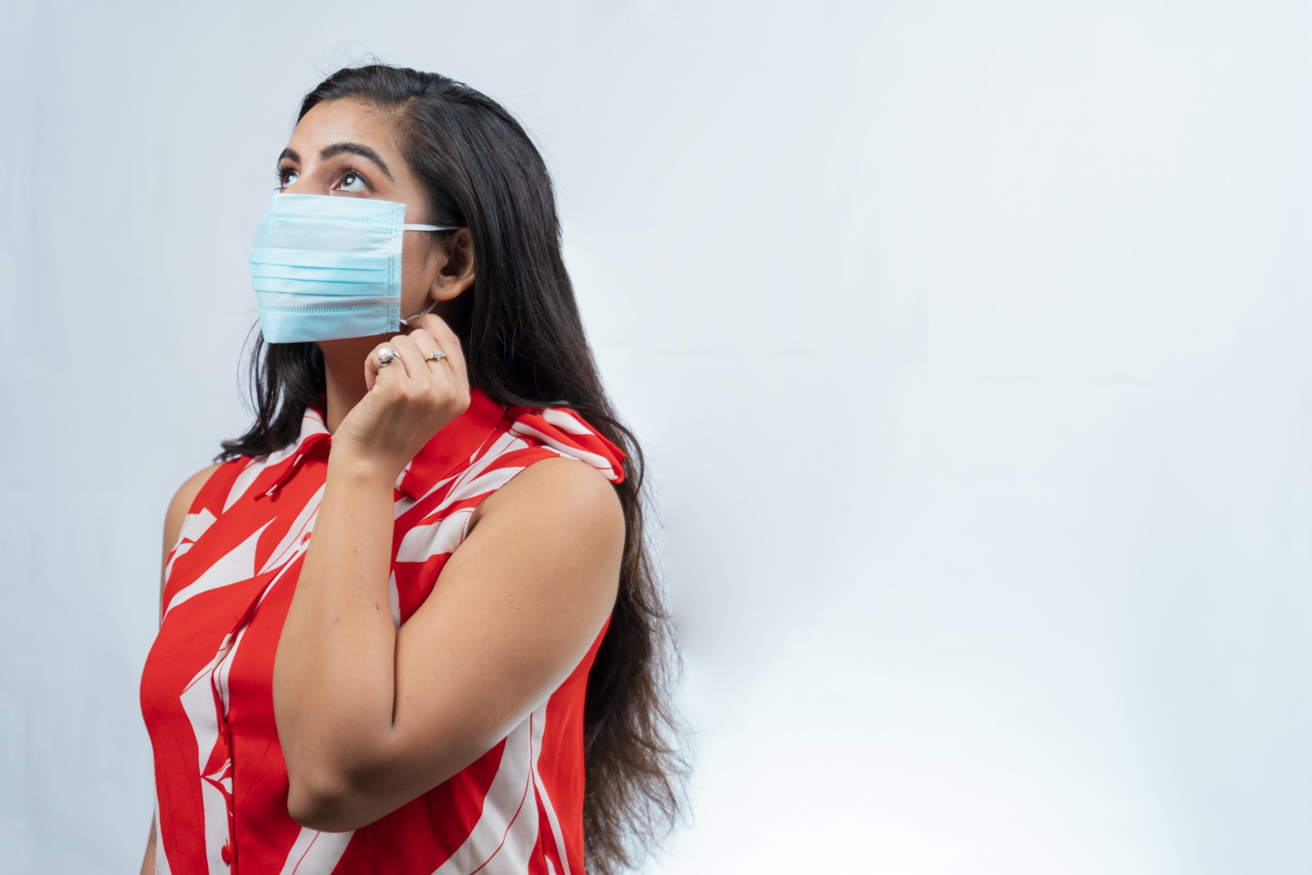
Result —
<instances>
[{"instance_id":1,"label":"woman's long dark hair falling down her back and beside her neck","mask_svg":"<svg viewBox=\"0 0 1312 875\"><path fill-rule=\"evenodd\" d=\"M546 163L500 104L468 85L408 67L345 67L300 102L352 98L390 118L428 194L416 222L464 226L476 273L464 295L461 338L470 384L501 404L571 407L628 454L615 484L625 510L619 593L588 676L584 712L585 866L615 875L642 863L673 828L684 803L689 736L672 701L682 672L670 617L644 530L646 462L597 374L573 285ZM251 356L256 421L223 441L214 460L262 455L291 443L306 404L325 388L314 342L265 344ZM649 510L648 510L649 513Z\"/></svg>"}]
</instances>

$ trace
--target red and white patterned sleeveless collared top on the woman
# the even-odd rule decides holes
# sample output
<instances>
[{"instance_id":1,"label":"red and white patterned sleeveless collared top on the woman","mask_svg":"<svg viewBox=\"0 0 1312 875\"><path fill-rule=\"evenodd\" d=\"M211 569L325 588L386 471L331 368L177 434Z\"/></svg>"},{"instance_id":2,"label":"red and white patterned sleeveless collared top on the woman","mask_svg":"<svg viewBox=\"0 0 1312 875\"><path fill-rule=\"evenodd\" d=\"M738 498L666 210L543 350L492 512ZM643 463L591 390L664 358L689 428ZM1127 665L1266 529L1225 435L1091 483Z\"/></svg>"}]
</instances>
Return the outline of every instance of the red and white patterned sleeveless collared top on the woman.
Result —
<instances>
[{"instance_id":1,"label":"red and white patterned sleeveless collared top on the woman","mask_svg":"<svg viewBox=\"0 0 1312 875\"><path fill-rule=\"evenodd\" d=\"M585 875L586 655L505 739L462 771L346 833L287 815L273 659L314 530L332 436L320 392L295 443L210 475L165 560L160 627L140 680L155 761L155 871L172 875ZM398 628L432 592L474 508L544 458L613 483L625 453L569 408L502 407L480 388L396 478Z\"/></svg>"}]
</instances>

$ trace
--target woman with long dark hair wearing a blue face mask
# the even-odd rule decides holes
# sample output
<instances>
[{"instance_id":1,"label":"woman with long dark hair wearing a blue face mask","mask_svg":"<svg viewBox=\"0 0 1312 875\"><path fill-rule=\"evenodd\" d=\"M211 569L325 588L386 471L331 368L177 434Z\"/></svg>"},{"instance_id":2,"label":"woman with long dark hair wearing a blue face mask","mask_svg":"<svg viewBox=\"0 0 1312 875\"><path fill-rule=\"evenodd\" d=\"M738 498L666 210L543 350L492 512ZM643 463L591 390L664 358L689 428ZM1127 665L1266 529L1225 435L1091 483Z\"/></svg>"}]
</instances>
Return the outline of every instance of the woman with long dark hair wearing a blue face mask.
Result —
<instances>
[{"instance_id":1,"label":"woman with long dark hair wearing a blue face mask","mask_svg":"<svg viewBox=\"0 0 1312 875\"><path fill-rule=\"evenodd\" d=\"M636 866L686 774L678 655L541 155L375 64L277 176L257 421L164 526L142 871Z\"/></svg>"}]
</instances>

